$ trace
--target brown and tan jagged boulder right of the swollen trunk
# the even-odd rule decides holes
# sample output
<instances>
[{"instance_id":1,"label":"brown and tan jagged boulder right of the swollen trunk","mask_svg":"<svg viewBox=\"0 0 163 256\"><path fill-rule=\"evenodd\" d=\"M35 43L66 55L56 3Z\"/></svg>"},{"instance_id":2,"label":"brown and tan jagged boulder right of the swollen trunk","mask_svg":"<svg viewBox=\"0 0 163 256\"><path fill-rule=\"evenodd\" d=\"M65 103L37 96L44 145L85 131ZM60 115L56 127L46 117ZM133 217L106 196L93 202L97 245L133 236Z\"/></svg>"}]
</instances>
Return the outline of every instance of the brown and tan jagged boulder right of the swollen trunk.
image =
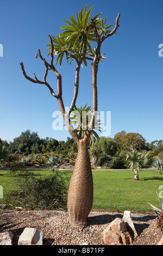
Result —
<instances>
[{"instance_id":1,"label":"brown and tan jagged boulder right of the swollen trunk","mask_svg":"<svg viewBox=\"0 0 163 256\"><path fill-rule=\"evenodd\" d=\"M132 239L126 224L121 218L116 218L102 233L105 245L130 245Z\"/></svg>"}]
</instances>

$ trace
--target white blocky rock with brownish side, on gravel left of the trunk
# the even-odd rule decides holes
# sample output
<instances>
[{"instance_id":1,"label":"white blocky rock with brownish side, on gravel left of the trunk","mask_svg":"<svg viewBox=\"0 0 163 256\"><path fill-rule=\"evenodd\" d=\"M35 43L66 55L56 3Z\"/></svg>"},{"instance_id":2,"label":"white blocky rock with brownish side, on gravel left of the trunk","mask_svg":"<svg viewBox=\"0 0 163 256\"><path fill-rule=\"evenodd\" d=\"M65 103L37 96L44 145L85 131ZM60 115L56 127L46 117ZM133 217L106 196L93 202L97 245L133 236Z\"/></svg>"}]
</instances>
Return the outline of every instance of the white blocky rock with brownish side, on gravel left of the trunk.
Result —
<instances>
[{"instance_id":1,"label":"white blocky rock with brownish side, on gravel left of the trunk","mask_svg":"<svg viewBox=\"0 0 163 256\"><path fill-rule=\"evenodd\" d=\"M18 245L42 245L41 230L35 228L24 228L23 233L18 239Z\"/></svg>"}]
</instances>

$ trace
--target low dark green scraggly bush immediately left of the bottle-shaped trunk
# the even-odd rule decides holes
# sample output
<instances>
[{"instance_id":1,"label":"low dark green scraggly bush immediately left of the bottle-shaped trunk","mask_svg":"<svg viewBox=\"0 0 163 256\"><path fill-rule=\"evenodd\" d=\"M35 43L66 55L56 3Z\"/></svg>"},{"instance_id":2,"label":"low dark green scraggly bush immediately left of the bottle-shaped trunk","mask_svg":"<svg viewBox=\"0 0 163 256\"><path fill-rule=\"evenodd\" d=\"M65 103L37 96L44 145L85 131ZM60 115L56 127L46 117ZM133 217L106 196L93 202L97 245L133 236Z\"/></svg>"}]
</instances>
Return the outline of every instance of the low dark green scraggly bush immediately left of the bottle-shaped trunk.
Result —
<instances>
[{"instance_id":1,"label":"low dark green scraggly bush immediately left of the bottle-shaped trunk","mask_svg":"<svg viewBox=\"0 0 163 256\"><path fill-rule=\"evenodd\" d=\"M64 209L67 203L66 176L56 170L53 174L35 178L24 170L16 179L18 188L5 196L5 204L23 209Z\"/></svg>"}]
</instances>

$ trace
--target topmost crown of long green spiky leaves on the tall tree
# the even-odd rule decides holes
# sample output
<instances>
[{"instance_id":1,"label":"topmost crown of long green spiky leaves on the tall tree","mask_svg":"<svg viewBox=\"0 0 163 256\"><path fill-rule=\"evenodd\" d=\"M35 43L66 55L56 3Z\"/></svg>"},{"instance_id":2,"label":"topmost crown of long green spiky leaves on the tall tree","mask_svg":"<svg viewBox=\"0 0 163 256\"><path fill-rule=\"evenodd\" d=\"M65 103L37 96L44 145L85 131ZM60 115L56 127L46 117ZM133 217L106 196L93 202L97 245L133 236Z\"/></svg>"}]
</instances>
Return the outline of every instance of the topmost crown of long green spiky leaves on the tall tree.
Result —
<instances>
[{"instance_id":1,"label":"topmost crown of long green spiky leaves on the tall tree","mask_svg":"<svg viewBox=\"0 0 163 256\"><path fill-rule=\"evenodd\" d=\"M91 19L90 14L93 6L87 10L86 7L77 13L76 18L70 16L70 21L65 20L66 26L62 26L62 33L57 36L52 36L54 43L54 55L57 55L56 63L62 63L64 56L66 57L67 63L70 64L75 59L80 62L83 66L87 66L87 60L93 60L96 55L96 47L92 42L98 42L101 40L101 36L104 36L111 32L109 28L113 25L106 25L106 20L99 19L97 14ZM47 45L48 50L51 50L51 45ZM48 55L51 52L48 53ZM104 59L104 54L101 54L100 59Z\"/></svg>"}]
</instances>

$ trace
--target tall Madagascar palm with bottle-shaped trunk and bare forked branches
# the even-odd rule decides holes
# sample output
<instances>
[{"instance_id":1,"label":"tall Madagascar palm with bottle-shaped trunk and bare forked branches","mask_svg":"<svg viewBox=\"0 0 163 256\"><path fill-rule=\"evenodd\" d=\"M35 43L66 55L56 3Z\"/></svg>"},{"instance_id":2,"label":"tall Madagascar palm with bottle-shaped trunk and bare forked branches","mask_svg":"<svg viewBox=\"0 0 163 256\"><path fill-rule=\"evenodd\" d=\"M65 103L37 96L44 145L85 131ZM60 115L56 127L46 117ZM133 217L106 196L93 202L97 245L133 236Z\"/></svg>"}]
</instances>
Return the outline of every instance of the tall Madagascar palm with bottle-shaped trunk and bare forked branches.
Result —
<instances>
[{"instance_id":1,"label":"tall Madagascar palm with bottle-shaped trunk and bare forked branches","mask_svg":"<svg viewBox=\"0 0 163 256\"><path fill-rule=\"evenodd\" d=\"M79 13L77 13L76 19L72 15L70 16L70 21L65 20L66 26L61 27L62 33L57 34L57 36L49 35L50 44L48 45L48 49L50 51L48 55L51 56L50 63L42 57L41 51L38 50L36 58L40 57L45 64L43 81L38 80L35 74L34 78L27 76L24 65L21 63L24 77L33 83L45 84L51 94L58 100L60 112L65 120L67 129L78 144L78 155L70 181L67 200L68 218L72 225L86 225L87 216L92 208L93 180L87 143L92 134L97 115L98 65L104 59L104 54L101 54L103 42L114 35L120 26L118 24L120 14L117 16L115 27L110 30L113 25L106 25L107 19L103 20L99 18L101 13L91 18L92 8L87 10L87 6L84 9L82 7ZM57 57L55 64L59 62L61 65L64 57L67 63L76 62L74 93L67 112L65 111L64 101L62 99L62 77L54 66L54 57ZM88 61L91 62L92 68L92 117L84 136L80 137L79 134L76 135L76 131L74 131L72 125L67 120L76 105L80 67L87 66ZM53 71L57 77L57 93L54 93L54 90L46 80L49 70ZM86 89L85 94L87 94Z\"/></svg>"}]
</instances>

